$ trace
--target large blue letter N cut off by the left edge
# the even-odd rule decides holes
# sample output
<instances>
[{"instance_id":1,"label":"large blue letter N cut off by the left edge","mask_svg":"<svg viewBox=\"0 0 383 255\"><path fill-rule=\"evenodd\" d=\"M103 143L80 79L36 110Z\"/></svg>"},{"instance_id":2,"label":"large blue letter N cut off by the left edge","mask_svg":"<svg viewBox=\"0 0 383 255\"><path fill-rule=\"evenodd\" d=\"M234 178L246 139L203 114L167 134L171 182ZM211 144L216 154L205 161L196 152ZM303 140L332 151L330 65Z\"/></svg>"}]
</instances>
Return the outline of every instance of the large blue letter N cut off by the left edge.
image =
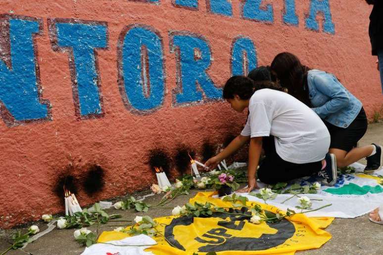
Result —
<instances>
[{"instance_id":1,"label":"large blue letter N cut off by the left edge","mask_svg":"<svg viewBox=\"0 0 383 255\"><path fill-rule=\"evenodd\" d=\"M0 61L0 108L5 106L11 116L3 115L10 126L18 122L48 119L48 101L39 98L39 77L33 35L40 32L40 24L31 18L9 18L9 68ZM7 32L5 32L7 33Z\"/></svg>"}]
</instances>

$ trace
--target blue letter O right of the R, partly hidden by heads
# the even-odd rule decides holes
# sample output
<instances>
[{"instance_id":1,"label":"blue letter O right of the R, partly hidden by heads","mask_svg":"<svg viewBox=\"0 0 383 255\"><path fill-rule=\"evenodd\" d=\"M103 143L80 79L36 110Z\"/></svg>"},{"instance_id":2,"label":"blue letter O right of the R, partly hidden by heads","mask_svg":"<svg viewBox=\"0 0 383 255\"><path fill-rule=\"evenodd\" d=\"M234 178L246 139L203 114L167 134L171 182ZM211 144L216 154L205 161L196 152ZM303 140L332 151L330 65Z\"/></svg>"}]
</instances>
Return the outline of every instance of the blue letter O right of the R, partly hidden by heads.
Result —
<instances>
[{"instance_id":1,"label":"blue letter O right of the R, partly hidden by heads","mask_svg":"<svg viewBox=\"0 0 383 255\"><path fill-rule=\"evenodd\" d=\"M249 38L237 38L232 45L232 75L247 74L257 67L257 53Z\"/></svg>"}]
</instances>

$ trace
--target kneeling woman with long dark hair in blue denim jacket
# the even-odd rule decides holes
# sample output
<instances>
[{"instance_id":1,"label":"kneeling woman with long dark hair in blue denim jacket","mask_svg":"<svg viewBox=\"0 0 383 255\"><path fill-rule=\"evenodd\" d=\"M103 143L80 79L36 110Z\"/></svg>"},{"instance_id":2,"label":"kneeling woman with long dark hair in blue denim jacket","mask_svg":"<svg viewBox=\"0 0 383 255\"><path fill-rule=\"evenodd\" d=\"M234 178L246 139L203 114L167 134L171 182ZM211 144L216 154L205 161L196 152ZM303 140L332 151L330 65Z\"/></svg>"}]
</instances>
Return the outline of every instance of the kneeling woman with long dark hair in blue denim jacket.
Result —
<instances>
[{"instance_id":1,"label":"kneeling woman with long dark hair in blue denim jacket","mask_svg":"<svg viewBox=\"0 0 383 255\"><path fill-rule=\"evenodd\" d=\"M380 145L357 147L367 130L362 103L334 75L312 70L288 52L274 58L271 71L289 94L312 108L324 121L331 135L329 152L335 155L338 167L346 167L366 157L365 173L380 168Z\"/></svg>"}]
</instances>

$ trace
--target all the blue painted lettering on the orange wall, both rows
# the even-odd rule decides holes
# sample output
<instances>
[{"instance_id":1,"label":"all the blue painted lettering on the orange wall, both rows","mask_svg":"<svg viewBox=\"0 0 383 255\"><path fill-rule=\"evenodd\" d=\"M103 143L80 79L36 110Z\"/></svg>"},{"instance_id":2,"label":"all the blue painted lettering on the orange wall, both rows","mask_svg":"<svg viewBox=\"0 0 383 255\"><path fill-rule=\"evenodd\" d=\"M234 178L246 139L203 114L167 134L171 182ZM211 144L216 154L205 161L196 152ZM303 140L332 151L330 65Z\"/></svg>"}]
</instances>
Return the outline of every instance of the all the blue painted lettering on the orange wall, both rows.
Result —
<instances>
[{"instance_id":1,"label":"all the blue painted lettering on the orange wall, both rows","mask_svg":"<svg viewBox=\"0 0 383 255\"><path fill-rule=\"evenodd\" d=\"M158 0L148 3L159 5ZM198 10L197 0L174 0L175 7ZM232 3L208 0L210 13L233 16ZM305 27L319 31L317 16L324 17L323 31L335 34L329 0L311 0ZM241 18L273 23L272 4L245 0ZM285 0L283 21L297 26L295 0ZM0 16L0 115L9 126L51 120L49 100L42 99L40 68L35 37L43 36L43 20L18 15ZM97 52L111 50L108 24L78 19L48 19L51 47L67 53L75 115L80 119L104 116ZM162 35L163 36L163 35ZM165 96L164 49L161 34L153 27L132 24L124 27L117 42L118 87L125 107L135 114L159 109ZM173 106L220 100L222 89L208 74L212 52L208 39L189 31L170 30L169 50L176 60ZM254 42L242 35L232 41L230 68L233 75L246 75L257 66Z\"/></svg>"}]
</instances>

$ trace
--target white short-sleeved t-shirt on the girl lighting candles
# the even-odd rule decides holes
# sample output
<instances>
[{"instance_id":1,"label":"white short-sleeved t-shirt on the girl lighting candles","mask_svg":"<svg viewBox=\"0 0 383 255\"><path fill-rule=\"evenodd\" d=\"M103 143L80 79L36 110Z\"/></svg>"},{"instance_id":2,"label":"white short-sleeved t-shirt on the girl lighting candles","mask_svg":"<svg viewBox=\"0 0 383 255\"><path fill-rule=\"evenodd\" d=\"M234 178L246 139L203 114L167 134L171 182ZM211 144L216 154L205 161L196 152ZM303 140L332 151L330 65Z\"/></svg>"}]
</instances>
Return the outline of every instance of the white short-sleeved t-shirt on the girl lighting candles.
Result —
<instances>
[{"instance_id":1,"label":"white short-sleeved t-shirt on the girl lighting candles","mask_svg":"<svg viewBox=\"0 0 383 255\"><path fill-rule=\"evenodd\" d=\"M296 164L321 161L330 147L330 133L313 110L285 92L268 88L251 96L247 123L240 134L273 135L278 155Z\"/></svg>"}]
</instances>

